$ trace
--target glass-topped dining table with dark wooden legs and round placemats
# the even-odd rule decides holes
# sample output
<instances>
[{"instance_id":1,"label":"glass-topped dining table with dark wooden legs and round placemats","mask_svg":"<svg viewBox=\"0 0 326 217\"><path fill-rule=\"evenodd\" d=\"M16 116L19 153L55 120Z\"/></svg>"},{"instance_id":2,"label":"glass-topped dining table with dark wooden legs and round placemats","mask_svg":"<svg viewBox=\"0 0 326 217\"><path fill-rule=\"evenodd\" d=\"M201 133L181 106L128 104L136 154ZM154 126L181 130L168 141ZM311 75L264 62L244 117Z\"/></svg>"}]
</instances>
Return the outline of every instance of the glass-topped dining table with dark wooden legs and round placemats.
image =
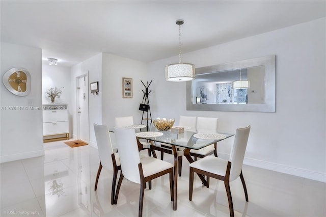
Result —
<instances>
[{"instance_id":1,"label":"glass-topped dining table with dark wooden legs and round placemats","mask_svg":"<svg viewBox=\"0 0 326 217\"><path fill-rule=\"evenodd\" d=\"M135 134L138 139L145 139L151 141L151 151L153 156L156 157L155 151L161 151L160 144L168 144L172 148L172 154L174 155L174 201L173 210L177 209L177 180L178 180L178 149L183 149L183 155L187 158L189 163L194 162L191 157L191 149L199 150L206 146L216 144L222 140L232 137L232 133L213 132L209 129L192 129L184 127L184 132L173 133L171 130L159 131L153 125L149 125L142 128L135 129ZM140 145L140 144L139 144ZM197 174L202 180L202 183L206 185L204 176Z\"/></svg>"}]
</instances>

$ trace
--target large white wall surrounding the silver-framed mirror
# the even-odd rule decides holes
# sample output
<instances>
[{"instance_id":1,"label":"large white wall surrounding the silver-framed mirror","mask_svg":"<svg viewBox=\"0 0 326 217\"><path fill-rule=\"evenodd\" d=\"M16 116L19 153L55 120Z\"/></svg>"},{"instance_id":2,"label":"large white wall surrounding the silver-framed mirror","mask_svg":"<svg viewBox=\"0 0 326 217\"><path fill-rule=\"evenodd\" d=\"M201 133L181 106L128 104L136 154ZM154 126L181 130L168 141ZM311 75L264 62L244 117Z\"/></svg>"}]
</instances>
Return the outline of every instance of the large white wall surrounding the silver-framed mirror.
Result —
<instances>
[{"instance_id":1,"label":"large white wall surrounding the silver-framed mirror","mask_svg":"<svg viewBox=\"0 0 326 217\"><path fill-rule=\"evenodd\" d=\"M182 55L196 67L276 55L276 113L186 111L185 83L164 80L173 57L148 64L152 114L219 117L221 131L251 124L245 164L326 182L325 26L321 18ZM220 156L232 144L220 142Z\"/></svg>"}]
</instances>

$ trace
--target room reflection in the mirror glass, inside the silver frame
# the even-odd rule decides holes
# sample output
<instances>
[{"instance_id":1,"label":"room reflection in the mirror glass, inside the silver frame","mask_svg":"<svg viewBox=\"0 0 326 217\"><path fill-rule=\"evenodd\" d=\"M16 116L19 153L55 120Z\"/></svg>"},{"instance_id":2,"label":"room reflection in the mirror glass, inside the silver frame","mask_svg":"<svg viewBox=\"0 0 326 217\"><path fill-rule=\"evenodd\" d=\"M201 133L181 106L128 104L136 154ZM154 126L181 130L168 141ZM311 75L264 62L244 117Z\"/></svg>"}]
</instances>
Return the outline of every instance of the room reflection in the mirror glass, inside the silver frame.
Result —
<instances>
[{"instance_id":1,"label":"room reflection in the mirror glass, inside the silver frame","mask_svg":"<svg viewBox=\"0 0 326 217\"><path fill-rule=\"evenodd\" d=\"M234 88L236 80L248 80L249 88ZM200 74L192 81L192 92L193 104L265 103L265 66Z\"/></svg>"}]
</instances>

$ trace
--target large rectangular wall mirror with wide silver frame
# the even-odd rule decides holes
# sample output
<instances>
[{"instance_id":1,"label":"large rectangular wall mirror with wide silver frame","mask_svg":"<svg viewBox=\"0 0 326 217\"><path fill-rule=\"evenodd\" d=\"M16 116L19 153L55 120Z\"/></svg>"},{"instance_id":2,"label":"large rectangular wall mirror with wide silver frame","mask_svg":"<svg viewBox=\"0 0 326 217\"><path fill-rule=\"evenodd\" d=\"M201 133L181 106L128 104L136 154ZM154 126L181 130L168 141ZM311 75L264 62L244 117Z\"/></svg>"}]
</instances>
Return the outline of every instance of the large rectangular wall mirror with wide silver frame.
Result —
<instances>
[{"instance_id":1,"label":"large rectangular wall mirror with wide silver frame","mask_svg":"<svg viewBox=\"0 0 326 217\"><path fill-rule=\"evenodd\" d=\"M275 80L275 55L196 68L187 110L275 112Z\"/></svg>"}]
</instances>

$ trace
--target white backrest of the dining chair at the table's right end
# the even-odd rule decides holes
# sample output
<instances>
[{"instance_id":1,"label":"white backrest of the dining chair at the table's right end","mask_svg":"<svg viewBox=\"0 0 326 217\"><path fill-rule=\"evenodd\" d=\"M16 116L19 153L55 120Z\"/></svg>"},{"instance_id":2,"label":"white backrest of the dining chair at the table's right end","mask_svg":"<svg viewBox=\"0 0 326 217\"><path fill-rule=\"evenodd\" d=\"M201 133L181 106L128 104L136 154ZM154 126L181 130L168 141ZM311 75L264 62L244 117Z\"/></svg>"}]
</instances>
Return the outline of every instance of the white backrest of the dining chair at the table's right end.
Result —
<instances>
[{"instance_id":1,"label":"white backrest of the dining chair at the table's right end","mask_svg":"<svg viewBox=\"0 0 326 217\"><path fill-rule=\"evenodd\" d=\"M248 137L250 132L250 125L244 128L238 128L235 132L234 143L230 155L229 161L231 161L231 172L230 172L230 181L233 181L237 177L239 177L244 153L246 152L246 147L248 143Z\"/></svg>"}]
</instances>

